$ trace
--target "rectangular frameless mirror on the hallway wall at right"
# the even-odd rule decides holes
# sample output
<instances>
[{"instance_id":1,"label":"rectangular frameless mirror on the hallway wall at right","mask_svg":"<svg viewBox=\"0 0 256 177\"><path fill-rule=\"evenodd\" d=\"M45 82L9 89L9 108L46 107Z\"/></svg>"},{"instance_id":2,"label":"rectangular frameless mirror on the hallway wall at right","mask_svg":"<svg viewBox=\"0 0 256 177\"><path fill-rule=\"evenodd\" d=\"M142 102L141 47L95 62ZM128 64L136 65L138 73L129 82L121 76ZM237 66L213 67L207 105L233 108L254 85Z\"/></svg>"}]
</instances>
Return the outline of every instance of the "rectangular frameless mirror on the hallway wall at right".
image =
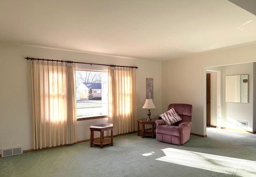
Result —
<instances>
[{"instance_id":1,"label":"rectangular frameless mirror on the hallway wall at right","mask_svg":"<svg viewBox=\"0 0 256 177\"><path fill-rule=\"evenodd\" d=\"M226 76L226 102L248 103L248 75Z\"/></svg>"}]
</instances>

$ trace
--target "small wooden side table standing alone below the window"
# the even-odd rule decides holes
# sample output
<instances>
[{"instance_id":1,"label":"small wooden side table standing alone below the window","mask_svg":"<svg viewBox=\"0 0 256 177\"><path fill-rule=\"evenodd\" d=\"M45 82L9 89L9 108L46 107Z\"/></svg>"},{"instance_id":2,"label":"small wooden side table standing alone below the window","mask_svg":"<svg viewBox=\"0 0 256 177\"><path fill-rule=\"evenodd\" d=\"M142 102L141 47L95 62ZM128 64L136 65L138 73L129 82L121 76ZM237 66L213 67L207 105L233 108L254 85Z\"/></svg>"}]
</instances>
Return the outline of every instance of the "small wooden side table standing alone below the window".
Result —
<instances>
[{"instance_id":1,"label":"small wooden side table standing alone below the window","mask_svg":"<svg viewBox=\"0 0 256 177\"><path fill-rule=\"evenodd\" d=\"M100 148L105 144L111 144L113 146L113 124L92 124L91 130L91 147L93 144L100 145ZM104 139L104 131L111 130L111 139ZM100 132L100 140L94 140L94 131Z\"/></svg>"}]
</instances>

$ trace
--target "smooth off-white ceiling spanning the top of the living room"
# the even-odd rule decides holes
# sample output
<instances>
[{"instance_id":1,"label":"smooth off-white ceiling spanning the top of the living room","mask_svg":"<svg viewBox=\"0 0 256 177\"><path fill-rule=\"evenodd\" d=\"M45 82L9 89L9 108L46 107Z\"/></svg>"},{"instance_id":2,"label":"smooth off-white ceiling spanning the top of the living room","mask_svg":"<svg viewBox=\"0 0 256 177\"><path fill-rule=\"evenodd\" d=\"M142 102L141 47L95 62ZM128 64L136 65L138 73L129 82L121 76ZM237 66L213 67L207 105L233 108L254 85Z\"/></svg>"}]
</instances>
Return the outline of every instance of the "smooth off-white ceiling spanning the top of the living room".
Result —
<instances>
[{"instance_id":1,"label":"smooth off-white ceiling spanning the top of the living room","mask_svg":"<svg viewBox=\"0 0 256 177\"><path fill-rule=\"evenodd\" d=\"M165 61L256 43L256 16L228 0L0 0L0 41Z\"/></svg>"}]
</instances>

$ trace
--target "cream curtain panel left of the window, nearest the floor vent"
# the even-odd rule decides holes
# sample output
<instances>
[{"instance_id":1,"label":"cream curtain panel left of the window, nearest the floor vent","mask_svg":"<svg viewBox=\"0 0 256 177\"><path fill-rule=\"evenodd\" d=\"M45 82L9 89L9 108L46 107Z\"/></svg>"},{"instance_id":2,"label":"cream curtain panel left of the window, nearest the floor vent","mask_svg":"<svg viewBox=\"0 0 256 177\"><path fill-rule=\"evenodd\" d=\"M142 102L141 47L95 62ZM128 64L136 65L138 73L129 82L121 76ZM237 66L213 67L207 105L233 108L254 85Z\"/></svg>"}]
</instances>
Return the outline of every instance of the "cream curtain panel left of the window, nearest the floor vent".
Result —
<instances>
[{"instance_id":1,"label":"cream curtain panel left of the window, nearest the floor vent","mask_svg":"<svg viewBox=\"0 0 256 177\"><path fill-rule=\"evenodd\" d=\"M32 60L31 148L76 142L75 64Z\"/></svg>"}]
</instances>

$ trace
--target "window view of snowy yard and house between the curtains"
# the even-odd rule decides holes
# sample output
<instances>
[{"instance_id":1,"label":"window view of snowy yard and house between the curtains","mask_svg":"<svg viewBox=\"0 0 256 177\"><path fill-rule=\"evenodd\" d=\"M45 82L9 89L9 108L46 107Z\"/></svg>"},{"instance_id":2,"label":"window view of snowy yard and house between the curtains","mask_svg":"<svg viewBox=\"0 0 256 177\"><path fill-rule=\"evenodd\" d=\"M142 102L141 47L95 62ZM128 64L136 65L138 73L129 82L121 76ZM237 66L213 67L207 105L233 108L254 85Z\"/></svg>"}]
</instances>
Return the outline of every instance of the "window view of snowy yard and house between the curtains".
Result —
<instances>
[{"instance_id":1,"label":"window view of snowy yard and house between the curtains","mask_svg":"<svg viewBox=\"0 0 256 177\"><path fill-rule=\"evenodd\" d=\"M77 118L108 115L108 72L76 70Z\"/></svg>"}]
</instances>

